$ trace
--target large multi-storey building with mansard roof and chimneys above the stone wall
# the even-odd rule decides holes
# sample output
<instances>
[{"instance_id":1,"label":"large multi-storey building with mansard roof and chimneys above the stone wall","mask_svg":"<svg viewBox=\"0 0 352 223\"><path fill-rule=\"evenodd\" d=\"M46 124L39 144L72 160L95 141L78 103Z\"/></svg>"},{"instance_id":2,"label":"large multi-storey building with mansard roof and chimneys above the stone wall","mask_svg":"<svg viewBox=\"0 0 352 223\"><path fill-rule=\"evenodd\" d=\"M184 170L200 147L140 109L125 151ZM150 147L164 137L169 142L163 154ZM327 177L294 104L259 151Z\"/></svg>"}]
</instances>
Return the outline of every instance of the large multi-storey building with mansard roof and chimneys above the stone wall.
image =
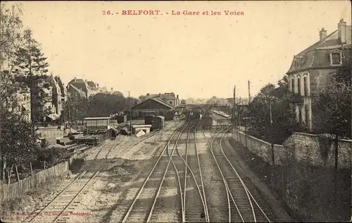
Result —
<instances>
[{"instance_id":1,"label":"large multi-storey building with mansard roof and chimneys above the stone wall","mask_svg":"<svg viewBox=\"0 0 352 223\"><path fill-rule=\"evenodd\" d=\"M344 20L337 30L327 35L322 28L319 41L294 56L289 76L289 90L294 92L293 109L296 119L312 130L312 97L329 84L329 80L344 66L346 54L351 54L351 25Z\"/></svg>"}]
</instances>

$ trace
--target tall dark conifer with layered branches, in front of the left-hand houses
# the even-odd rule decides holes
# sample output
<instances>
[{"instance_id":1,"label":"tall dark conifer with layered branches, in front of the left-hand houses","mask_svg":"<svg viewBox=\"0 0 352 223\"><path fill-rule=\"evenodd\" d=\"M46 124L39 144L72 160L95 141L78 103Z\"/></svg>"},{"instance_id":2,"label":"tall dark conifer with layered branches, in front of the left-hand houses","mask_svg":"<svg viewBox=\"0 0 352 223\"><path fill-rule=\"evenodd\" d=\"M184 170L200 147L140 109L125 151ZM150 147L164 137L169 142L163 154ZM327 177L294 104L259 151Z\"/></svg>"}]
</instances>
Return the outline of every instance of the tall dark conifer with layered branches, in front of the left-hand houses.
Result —
<instances>
[{"instance_id":1,"label":"tall dark conifer with layered branches, in front of the left-hand houses","mask_svg":"<svg viewBox=\"0 0 352 223\"><path fill-rule=\"evenodd\" d=\"M46 57L39 48L39 43L32 38L32 30L25 30L24 41L25 46L15 52L12 73L23 87L30 88L31 120L32 123L36 123L38 117L48 114L44 104L49 101L46 91L50 85L40 86L39 83L43 83L47 77L49 64L46 63Z\"/></svg>"}]
</instances>

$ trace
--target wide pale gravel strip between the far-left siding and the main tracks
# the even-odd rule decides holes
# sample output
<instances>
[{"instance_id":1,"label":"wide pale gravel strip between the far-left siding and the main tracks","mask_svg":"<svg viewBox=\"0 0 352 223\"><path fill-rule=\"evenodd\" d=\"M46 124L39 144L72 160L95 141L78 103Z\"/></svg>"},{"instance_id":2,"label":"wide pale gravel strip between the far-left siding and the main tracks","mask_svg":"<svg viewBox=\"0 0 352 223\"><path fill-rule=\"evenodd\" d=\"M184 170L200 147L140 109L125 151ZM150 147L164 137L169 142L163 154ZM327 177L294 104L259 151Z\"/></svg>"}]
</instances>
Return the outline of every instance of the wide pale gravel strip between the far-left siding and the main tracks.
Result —
<instances>
[{"instance_id":1,"label":"wide pale gravel strip between the far-left siding and the main tracks","mask_svg":"<svg viewBox=\"0 0 352 223\"><path fill-rule=\"evenodd\" d=\"M105 163L104 171L96 176L94 186L82 194L81 205L77 206L77 210L85 210L89 215L70 216L69 222L120 222L160 155L163 144L172 134L169 129L174 125L175 122L166 122L162 134L152 136L138 145L135 144L148 134L140 138L119 135L116 140L106 142L117 145L109 152L108 159L101 159ZM92 151L86 157L84 167L101 167L99 160L93 160L98 151L96 148L95 153Z\"/></svg>"}]
</instances>

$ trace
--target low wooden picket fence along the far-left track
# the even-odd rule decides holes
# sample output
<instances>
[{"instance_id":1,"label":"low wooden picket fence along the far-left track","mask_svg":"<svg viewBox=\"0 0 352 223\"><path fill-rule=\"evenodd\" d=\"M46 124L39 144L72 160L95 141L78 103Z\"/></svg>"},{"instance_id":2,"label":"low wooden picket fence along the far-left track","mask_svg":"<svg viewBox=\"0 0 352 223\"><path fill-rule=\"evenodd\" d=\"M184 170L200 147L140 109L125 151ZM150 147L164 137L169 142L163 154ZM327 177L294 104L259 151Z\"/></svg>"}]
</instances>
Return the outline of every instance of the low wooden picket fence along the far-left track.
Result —
<instances>
[{"instance_id":1,"label":"low wooden picket fence along the far-left track","mask_svg":"<svg viewBox=\"0 0 352 223\"><path fill-rule=\"evenodd\" d=\"M54 167L39 171L38 173L33 174L33 176L26 177L25 179L22 179L15 183L0 185L1 200L15 198L19 195L23 195L34 186L37 186L39 185L39 183L43 183L44 181L46 181L48 177L62 176L64 174L67 174L70 167L70 163L80 154L75 154L65 162L61 162L59 164L56 164Z\"/></svg>"}]
</instances>

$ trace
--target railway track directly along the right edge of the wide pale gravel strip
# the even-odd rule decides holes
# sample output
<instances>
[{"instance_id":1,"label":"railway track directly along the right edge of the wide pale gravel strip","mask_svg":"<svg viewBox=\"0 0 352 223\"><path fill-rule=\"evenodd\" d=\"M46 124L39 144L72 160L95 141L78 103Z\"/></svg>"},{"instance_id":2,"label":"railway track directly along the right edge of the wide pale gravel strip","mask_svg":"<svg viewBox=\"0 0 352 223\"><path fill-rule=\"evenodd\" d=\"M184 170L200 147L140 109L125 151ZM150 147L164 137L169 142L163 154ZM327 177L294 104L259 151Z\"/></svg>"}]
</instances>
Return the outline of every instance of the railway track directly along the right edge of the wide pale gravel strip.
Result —
<instances>
[{"instance_id":1,"label":"railway track directly along the right edge of the wide pale gravel strip","mask_svg":"<svg viewBox=\"0 0 352 223\"><path fill-rule=\"evenodd\" d=\"M122 222L150 222L153 217L153 210L156 206L158 195L161 193L161 188L165 180L165 176L168 173L168 167L170 166L171 160L169 155L170 141L176 135L177 131L181 132L187 126L188 123L184 124L176 129L172 133L165 147L163 148L161 155L159 155L156 163L153 165L149 175L146 177L143 185L139 188L139 192L135 196L130 208L125 213ZM177 136L177 140L180 138L180 134ZM173 148L171 157L175 152ZM167 159L169 157L169 159ZM166 166L165 166L166 165ZM154 215L155 216L155 215Z\"/></svg>"}]
</instances>

